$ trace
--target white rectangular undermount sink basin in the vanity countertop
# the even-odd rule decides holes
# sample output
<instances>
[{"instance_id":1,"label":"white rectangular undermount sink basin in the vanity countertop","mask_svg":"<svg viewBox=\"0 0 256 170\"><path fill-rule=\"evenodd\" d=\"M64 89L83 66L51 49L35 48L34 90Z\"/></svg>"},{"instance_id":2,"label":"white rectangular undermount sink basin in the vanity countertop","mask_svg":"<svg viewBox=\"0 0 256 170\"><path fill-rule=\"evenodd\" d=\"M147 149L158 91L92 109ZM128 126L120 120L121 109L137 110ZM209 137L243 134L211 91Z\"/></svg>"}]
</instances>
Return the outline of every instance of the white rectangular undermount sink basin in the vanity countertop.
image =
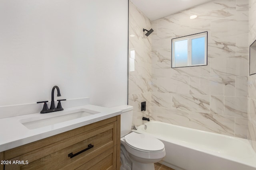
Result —
<instances>
[{"instance_id":1,"label":"white rectangular undermount sink basin in the vanity countertop","mask_svg":"<svg viewBox=\"0 0 256 170\"><path fill-rule=\"evenodd\" d=\"M55 113L56 113L56 115L53 115ZM69 121L72 119L78 119L81 117L94 115L96 113L100 113L100 112L94 111L94 110L89 110L89 109L76 109L73 111L66 111L66 112L63 111L60 113L57 113L57 112L48 113L47 115L41 115L40 117L37 117L34 119L31 119L31 118L22 119L22 120L20 120L20 122L22 123L22 125L24 125L28 129L37 129L37 128L45 127L48 125L62 123L62 122Z\"/></svg>"}]
</instances>

